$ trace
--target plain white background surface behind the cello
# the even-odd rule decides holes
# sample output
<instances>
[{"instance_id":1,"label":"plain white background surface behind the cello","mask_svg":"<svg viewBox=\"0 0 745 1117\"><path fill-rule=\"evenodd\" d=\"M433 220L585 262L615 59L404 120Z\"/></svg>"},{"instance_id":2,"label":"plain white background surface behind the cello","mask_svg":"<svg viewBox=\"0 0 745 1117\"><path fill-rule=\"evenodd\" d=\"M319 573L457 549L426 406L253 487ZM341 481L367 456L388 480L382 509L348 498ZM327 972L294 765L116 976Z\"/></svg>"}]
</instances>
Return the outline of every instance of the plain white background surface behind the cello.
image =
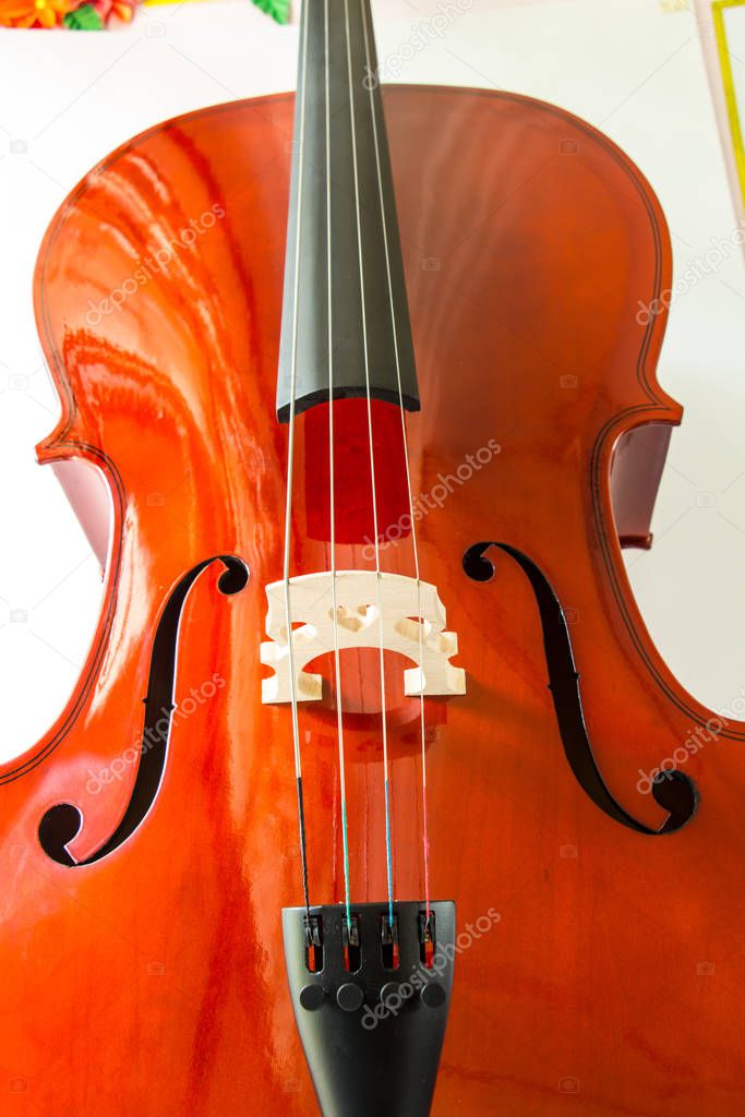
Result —
<instances>
[{"instance_id":1,"label":"plain white background surface behind the cello","mask_svg":"<svg viewBox=\"0 0 745 1117\"><path fill-rule=\"evenodd\" d=\"M395 65L437 0L374 7L380 58ZM711 238L730 241L734 209L690 12L656 0L489 8L480 0L453 18L400 79L514 89L601 127L659 193L678 275ZM0 34L0 758L32 745L59 713L101 601L96 561L51 471L34 459L58 414L31 313L40 238L76 181L133 134L292 88L296 47L296 28L276 27L247 0L150 8L116 32ZM656 545L629 557L662 656L715 708L745 686L744 299L742 250L732 248L674 302L660 379L686 405L685 424Z\"/></svg>"}]
</instances>

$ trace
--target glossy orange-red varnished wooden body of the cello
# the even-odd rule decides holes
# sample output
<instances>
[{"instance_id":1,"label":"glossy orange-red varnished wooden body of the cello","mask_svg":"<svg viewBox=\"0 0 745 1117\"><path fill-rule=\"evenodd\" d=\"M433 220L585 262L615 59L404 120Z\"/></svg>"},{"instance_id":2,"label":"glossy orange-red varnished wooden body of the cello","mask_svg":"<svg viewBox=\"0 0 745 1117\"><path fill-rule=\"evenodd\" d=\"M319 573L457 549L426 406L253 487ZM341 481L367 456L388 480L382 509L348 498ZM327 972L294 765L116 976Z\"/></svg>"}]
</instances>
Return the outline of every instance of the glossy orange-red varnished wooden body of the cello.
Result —
<instances>
[{"instance_id":1,"label":"glossy orange-red varnished wooden body of the cello","mask_svg":"<svg viewBox=\"0 0 745 1117\"><path fill-rule=\"evenodd\" d=\"M670 676L621 557L621 541L648 542L681 416L655 378L665 314L638 315L669 286L663 216L633 164L561 109L423 87L384 104L426 401L407 420L412 488L429 495L419 561L467 680L426 699L432 896L455 900L467 939L432 1113L553 1115L572 1094L592 1117L730 1117L745 1108L745 731ZM39 257L63 408L39 460L105 562L105 594L66 709L0 773L2 1063L19 1115L318 1111L281 943L280 910L302 903L290 716L261 700L283 564L292 114L269 97L137 137L73 192ZM328 567L312 416L296 430L297 574ZM354 484L350 468L347 563ZM408 572L389 543L384 569ZM708 734L680 764L700 803L675 832L610 817L567 763L571 715L547 685L560 612L594 762L642 828L669 811L640 770ZM345 656L362 903L385 894L380 693L363 652ZM397 892L421 896L419 704L386 657ZM323 903L342 899L335 724L327 697L303 704Z\"/></svg>"}]
</instances>

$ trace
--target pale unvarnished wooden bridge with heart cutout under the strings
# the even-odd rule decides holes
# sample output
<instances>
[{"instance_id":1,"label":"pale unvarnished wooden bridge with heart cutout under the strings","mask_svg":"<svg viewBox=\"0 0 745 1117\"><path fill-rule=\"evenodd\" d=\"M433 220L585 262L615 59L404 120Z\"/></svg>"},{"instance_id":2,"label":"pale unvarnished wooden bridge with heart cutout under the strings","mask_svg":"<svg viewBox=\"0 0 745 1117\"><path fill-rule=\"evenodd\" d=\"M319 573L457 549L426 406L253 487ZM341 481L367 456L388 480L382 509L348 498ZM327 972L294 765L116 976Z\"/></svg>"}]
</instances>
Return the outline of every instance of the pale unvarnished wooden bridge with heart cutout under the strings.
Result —
<instances>
[{"instance_id":1,"label":"pale unvarnished wooden bridge with heart cutout under the strings","mask_svg":"<svg viewBox=\"0 0 745 1117\"><path fill-rule=\"evenodd\" d=\"M337 571L334 586L328 571L290 579L290 615L295 697L318 701L323 677L306 671L317 656L338 649L379 648L397 651L416 667L403 672L404 691L411 697L466 694L466 672L450 660L458 651L458 637L446 631L446 612L437 589L403 574L375 571ZM285 583L267 585L269 640L261 645L261 662L274 675L261 680L264 703L292 701L289 642ZM379 613L380 608L380 613ZM382 622L381 622L382 614ZM334 623L335 621L335 623ZM335 632L334 632L335 630Z\"/></svg>"}]
</instances>

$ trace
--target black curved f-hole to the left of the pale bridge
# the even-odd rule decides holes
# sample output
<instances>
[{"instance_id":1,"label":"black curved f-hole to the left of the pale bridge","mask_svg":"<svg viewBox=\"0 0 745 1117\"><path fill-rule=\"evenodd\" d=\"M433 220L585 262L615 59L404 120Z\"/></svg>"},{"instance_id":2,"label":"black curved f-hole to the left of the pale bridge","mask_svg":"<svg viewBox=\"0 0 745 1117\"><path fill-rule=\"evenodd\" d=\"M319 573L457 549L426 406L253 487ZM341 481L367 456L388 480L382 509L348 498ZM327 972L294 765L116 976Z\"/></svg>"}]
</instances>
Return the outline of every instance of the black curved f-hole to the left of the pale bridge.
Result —
<instances>
[{"instance_id":1,"label":"black curved f-hole to the left of the pale bridge","mask_svg":"<svg viewBox=\"0 0 745 1117\"><path fill-rule=\"evenodd\" d=\"M165 771L172 715L175 709L173 695L181 613L192 585L213 562L221 562L225 566L218 580L221 593L231 596L247 585L246 563L235 555L217 555L206 558L190 570L175 586L165 603L153 640L147 697L144 699L145 723L132 798L112 836L84 861L76 861L67 849L83 825L80 811L73 803L57 803L50 806L39 823L39 842L47 857L57 865L80 868L108 857L135 833L155 802ZM166 722L165 727L162 725L163 720Z\"/></svg>"}]
</instances>

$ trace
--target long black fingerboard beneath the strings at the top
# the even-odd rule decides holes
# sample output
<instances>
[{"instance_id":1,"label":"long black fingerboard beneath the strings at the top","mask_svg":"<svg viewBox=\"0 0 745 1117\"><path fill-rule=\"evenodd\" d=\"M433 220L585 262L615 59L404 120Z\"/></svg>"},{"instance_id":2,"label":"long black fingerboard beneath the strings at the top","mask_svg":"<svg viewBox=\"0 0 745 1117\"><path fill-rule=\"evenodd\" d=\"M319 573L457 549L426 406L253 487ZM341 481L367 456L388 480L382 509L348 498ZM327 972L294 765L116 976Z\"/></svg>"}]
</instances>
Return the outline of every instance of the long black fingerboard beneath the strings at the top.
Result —
<instances>
[{"instance_id":1,"label":"long black fingerboard beneath the strings at the top","mask_svg":"<svg viewBox=\"0 0 745 1117\"><path fill-rule=\"evenodd\" d=\"M305 0L277 413L362 397L419 409L369 0Z\"/></svg>"}]
</instances>

